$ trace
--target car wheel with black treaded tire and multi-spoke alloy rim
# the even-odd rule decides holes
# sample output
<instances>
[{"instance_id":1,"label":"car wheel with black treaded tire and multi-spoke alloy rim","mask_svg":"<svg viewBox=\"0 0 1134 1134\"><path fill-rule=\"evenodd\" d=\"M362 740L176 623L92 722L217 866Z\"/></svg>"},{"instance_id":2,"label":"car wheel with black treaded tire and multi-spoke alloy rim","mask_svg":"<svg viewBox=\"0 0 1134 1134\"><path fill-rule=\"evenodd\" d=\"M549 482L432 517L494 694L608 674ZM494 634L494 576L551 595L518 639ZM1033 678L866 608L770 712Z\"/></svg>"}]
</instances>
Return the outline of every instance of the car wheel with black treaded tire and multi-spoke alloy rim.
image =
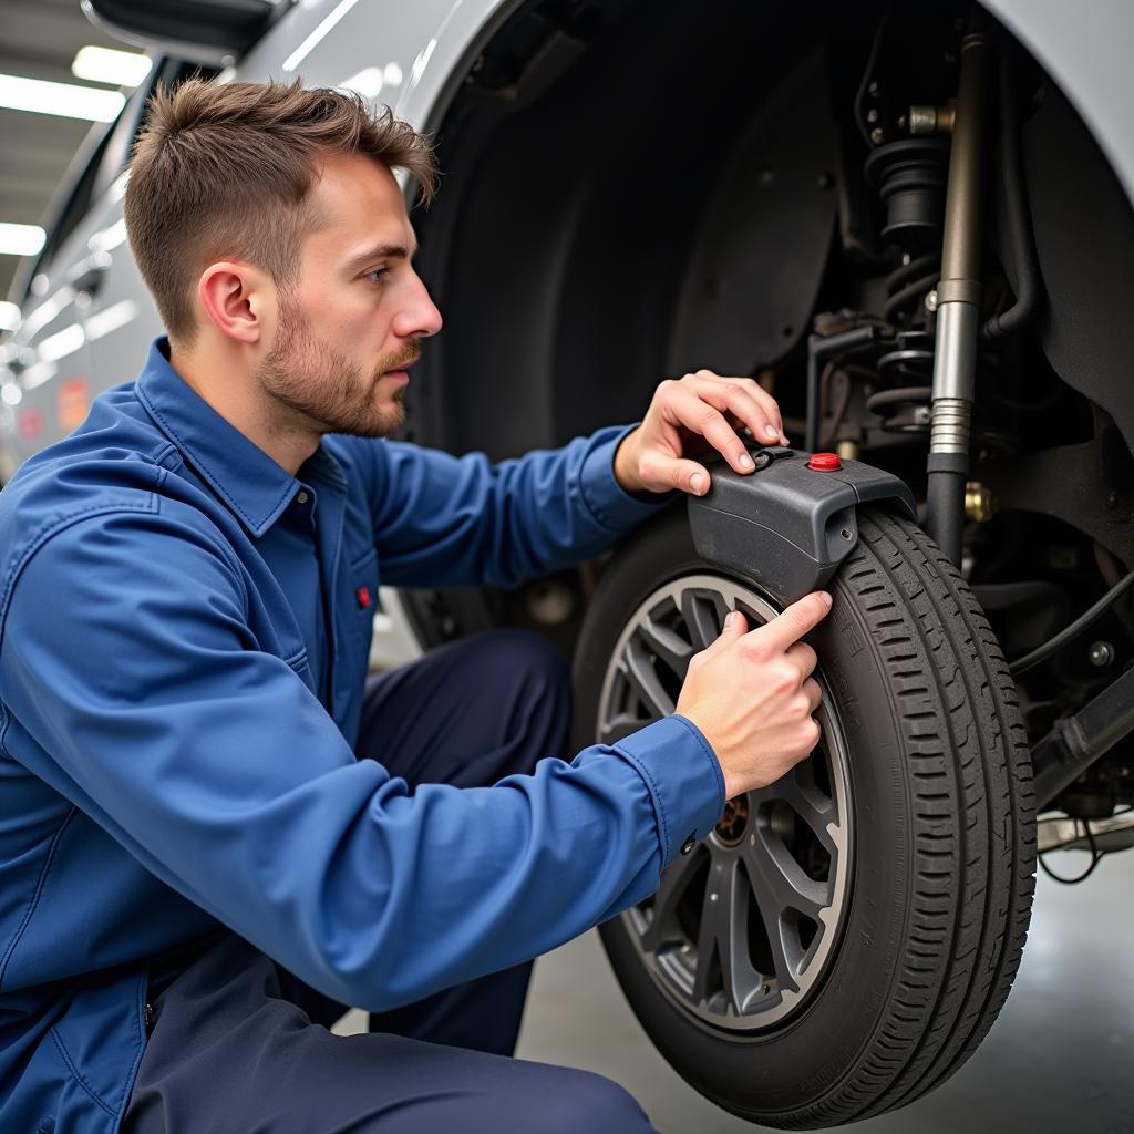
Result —
<instances>
[{"instance_id":1,"label":"car wheel with black treaded tire and multi-spoke alloy rim","mask_svg":"<svg viewBox=\"0 0 1134 1134\"><path fill-rule=\"evenodd\" d=\"M830 591L831 612L807 637L820 746L779 785L730 804L699 866L679 855L659 895L601 930L672 1067L725 1109L786 1129L878 1115L951 1075L1007 998L1034 889L1016 691L959 572L916 525L870 507ZM663 716L679 643L703 648L731 606L750 627L778 609L753 581L697 558L684 509L627 541L577 644L577 746ZM769 862L782 873L753 886ZM806 932L793 887L830 898Z\"/></svg>"}]
</instances>

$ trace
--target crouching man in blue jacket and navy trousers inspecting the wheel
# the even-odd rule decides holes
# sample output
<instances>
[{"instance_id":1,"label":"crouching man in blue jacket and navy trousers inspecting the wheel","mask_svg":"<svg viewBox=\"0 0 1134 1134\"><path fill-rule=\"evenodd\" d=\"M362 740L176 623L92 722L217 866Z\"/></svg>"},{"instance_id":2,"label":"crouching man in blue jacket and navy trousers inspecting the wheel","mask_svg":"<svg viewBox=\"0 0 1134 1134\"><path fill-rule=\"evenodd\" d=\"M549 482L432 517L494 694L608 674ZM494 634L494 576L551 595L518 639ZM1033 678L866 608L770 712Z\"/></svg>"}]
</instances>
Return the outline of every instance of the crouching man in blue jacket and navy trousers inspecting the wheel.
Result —
<instances>
[{"instance_id":1,"label":"crouching man in blue jacket and navy trousers inspecting the wheel","mask_svg":"<svg viewBox=\"0 0 1134 1134\"><path fill-rule=\"evenodd\" d=\"M713 450L748 471L738 431L786 443L705 371L497 465L387 440L441 329L395 170L434 192L426 142L336 91L151 104L125 212L168 337L0 494L0 1129L650 1129L511 1058L531 959L818 741L822 593L730 616L671 717L569 762L534 634L367 679L379 578L510 586L703 492ZM367 1034L328 1031L347 1005Z\"/></svg>"}]
</instances>

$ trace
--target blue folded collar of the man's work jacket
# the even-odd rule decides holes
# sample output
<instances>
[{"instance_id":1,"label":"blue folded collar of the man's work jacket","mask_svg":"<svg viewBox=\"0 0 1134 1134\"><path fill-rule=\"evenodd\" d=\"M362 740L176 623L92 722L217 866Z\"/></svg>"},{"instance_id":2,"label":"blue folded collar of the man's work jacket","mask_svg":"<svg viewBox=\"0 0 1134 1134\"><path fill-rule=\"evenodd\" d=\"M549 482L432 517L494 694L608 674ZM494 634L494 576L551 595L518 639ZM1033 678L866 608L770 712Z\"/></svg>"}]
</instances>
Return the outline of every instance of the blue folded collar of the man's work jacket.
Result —
<instances>
[{"instance_id":1,"label":"blue folded collar of the man's work jacket","mask_svg":"<svg viewBox=\"0 0 1134 1134\"><path fill-rule=\"evenodd\" d=\"M301 482L217 413L174 370L164 336L150 345L135 391L186 463L253 535L263 535L291 502ZM322 449L316 457L320 454ZM313 458L308 464L320 465L322 460Z\"/></svg>"}]
</instances>

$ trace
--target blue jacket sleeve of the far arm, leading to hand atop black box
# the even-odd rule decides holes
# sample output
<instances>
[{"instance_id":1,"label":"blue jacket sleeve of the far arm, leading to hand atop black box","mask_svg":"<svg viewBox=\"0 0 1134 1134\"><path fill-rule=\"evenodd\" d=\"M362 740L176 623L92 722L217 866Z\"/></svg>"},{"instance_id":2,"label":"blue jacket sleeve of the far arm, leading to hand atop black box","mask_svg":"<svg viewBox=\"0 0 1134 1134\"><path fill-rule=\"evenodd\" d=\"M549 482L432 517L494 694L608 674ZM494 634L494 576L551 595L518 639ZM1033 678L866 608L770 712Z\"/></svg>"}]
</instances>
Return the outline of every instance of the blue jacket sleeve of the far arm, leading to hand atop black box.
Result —
<instances>
[{"instance_id":1,"label":"blue jacket sleeve of the far arm, leading to hand atop black box","mask_svg":"<svg viewBox=\"0 0 1134 1134\"><path fill-rule=\"evenodd\" d=\"M675 496L632 497L615 480L615 450L633 428L496 465L482 452L371 443L382 582L513 586L613 547Z\"/></svg>"}]
</instances>

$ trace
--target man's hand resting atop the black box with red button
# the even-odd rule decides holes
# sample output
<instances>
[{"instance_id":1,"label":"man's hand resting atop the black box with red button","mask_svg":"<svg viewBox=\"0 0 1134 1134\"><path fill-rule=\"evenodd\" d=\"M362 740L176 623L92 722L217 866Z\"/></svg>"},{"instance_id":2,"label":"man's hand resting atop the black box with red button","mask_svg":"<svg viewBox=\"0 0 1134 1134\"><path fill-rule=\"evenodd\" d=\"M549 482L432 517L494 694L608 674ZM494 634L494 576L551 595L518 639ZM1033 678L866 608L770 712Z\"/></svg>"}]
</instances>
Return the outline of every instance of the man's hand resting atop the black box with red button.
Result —
<instances>
[{"instance_id":1,"label":"man's hand resting atop the black box with red button","mask_svg":"<svg viewBox=\"0 0 1134 1134\"><path fill-rule=\"evenodd\" d=\"M642 424L618 447L615 479L627 492L682 489L703 496L709 469L697 458L713 449L738 473L752 472L737 432L745 426L758 445L788 443L776 399L753 379L721 378L709 370L667 379Z\"/></svg>"}]
</instances>

